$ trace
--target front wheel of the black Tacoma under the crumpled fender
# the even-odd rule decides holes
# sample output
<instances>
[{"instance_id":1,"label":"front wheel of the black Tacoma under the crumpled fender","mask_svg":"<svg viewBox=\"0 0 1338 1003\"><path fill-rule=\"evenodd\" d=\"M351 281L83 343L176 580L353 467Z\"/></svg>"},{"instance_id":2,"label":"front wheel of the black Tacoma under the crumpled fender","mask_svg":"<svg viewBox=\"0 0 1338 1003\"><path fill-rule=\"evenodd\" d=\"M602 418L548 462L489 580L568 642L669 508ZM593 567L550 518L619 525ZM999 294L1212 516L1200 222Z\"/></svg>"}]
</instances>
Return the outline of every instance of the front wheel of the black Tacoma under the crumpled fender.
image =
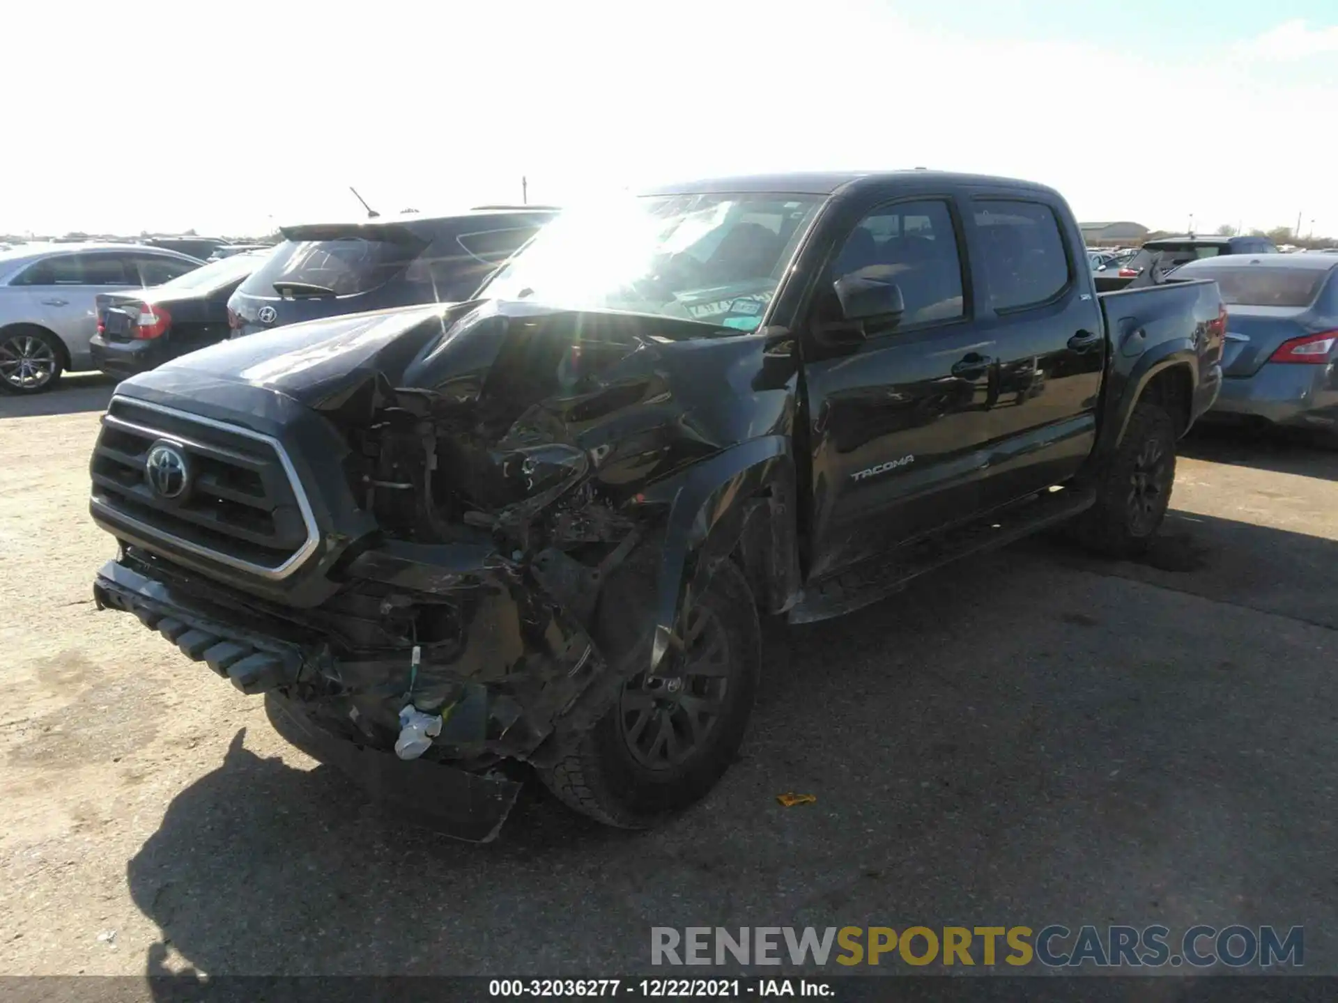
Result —
<instances>
[{"instance_id":1,"label":"front wheel of the black Tacoma under the crumpled fender","mask_svg":"<svg viewBox=\"0 0 1338 1003\"><path fill-rule=\"evenodd\" d=\"M743 571L725 560L705 583L694 583L686 653L665 655L684 659L681 689L670 693L662 681L648 679L649 570L634 560L619 568L591 627L610 671L625 681L619 697L562 758L538 770L567 806L622 829L649 828L716 785L743 742L761 667L752 592Z\"/></svg>"}]
</instances>

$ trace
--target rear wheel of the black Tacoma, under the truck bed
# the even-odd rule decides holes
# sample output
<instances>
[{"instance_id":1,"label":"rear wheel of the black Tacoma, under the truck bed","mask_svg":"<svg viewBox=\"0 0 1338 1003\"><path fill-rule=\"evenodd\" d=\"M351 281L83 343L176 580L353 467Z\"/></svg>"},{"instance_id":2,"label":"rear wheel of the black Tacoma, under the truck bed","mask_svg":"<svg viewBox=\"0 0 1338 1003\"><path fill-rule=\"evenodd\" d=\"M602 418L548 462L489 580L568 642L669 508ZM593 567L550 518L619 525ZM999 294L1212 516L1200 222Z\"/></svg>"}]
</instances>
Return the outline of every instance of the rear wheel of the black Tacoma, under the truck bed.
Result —
<instances>
[{"instance_id":1,"label":"rear wheel of the black Tacoma, under the truck bed","mask_svg":"<svg viewBox=\"0 0 1338 1003\"><path fill-rule=\"evenodd\" d=\"M1073 522L1077 540L1111 558L1144 554L1171 504L1175 448L1175 420L1156 404L1135 405L1096 504Z\"/></svg>"}]
</instances>

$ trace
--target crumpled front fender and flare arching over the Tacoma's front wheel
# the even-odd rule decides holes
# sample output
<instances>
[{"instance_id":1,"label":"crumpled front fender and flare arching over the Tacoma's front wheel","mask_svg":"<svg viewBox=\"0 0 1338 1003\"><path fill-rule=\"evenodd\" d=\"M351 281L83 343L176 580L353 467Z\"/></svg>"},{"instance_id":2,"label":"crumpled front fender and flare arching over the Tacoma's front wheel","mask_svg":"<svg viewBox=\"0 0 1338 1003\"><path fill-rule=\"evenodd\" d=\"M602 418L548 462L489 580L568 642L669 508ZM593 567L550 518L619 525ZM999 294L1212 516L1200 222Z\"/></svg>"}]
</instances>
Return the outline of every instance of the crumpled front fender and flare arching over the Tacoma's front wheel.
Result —
<instances>
[{"instance_id":1,"label":"crumpled front fender and flare arching over the Tacoma's front wheel","mask_svg":"<svg viewBox=\"0 0 1338 1003\"><path fill-rule=\"evenodd\" d=\"M677 626L693 571L704 559L729 555L744 534L755 504L765 496L767 527L779 546L768 546L769 560L780 564L760 568L771 579L773 595L793 595L799 587L795 558L795 461L789 437L761 436L724 449L684 473L648 487L646 503L669 503L664 548L656 584L656 631L650 671L662 663L677 643ZM776 539L776 536L780 539Z\"/></svg>"}]
</instances>

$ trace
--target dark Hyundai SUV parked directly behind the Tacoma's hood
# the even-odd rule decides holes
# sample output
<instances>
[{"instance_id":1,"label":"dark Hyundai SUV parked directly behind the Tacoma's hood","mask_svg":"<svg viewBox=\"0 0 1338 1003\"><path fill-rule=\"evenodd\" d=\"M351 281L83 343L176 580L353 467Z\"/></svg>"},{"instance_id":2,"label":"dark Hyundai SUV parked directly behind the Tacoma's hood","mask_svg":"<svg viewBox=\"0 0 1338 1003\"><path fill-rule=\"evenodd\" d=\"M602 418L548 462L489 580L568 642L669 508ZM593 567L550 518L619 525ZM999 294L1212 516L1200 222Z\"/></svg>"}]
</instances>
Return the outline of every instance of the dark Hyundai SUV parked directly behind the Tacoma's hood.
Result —
<instances>
[{"instance_id":1,"label":"dark Hyundai SUV parked directly behind the Tacoma's hood","mask_svg":"<svg viewBox=\"0 0 1338 1003\"><path fill-rule=\"evenodd\" d=\"M233 336L391 306L468 300L555 215L538 206L281 229L284 243L227 301Z\"/></svg>"}]
</instances>

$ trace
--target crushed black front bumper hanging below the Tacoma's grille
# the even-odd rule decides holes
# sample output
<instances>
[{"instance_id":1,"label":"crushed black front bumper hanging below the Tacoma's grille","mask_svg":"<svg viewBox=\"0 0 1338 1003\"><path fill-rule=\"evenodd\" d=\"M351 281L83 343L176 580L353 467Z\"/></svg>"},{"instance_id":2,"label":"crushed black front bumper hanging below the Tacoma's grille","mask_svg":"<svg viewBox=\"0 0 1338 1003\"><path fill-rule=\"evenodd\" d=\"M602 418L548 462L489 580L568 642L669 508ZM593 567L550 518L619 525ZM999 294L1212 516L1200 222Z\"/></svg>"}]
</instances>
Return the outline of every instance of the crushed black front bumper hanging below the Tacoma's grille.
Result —
<instances>
[{"instance_id":1,"label":"crushed black front bumper hanging below the Tacoma's grille","mask_svg":"<svg viewBox=\"0 0 1338 1003\"><path fill-rule=\"evenodd\" d=\"M393 554L361 567L403 580L421 574ZM435 568L438 583L468 576L463 564ZM94 598L99 608L132 612L242 693L265 694L282 737L379 801L455 839L487 841L520 789L503 761L561 754L567 737L598 719L614 693L581 627L561 612L543 622L535 604L522 600L530 590L498 582L480 576L466 584L464 604L474 615L452 649L456 657L434 655L423 645L412 679L409 650L340 650L318 625L290 619L301 611L265 607L135 554L107 562ZM551 599L530 598L551 607ZM399 710L407 702L429 709L434 701L446 705L440 737L421 760L397 758L391 749Z\"/></svg>"}]
</instances>

